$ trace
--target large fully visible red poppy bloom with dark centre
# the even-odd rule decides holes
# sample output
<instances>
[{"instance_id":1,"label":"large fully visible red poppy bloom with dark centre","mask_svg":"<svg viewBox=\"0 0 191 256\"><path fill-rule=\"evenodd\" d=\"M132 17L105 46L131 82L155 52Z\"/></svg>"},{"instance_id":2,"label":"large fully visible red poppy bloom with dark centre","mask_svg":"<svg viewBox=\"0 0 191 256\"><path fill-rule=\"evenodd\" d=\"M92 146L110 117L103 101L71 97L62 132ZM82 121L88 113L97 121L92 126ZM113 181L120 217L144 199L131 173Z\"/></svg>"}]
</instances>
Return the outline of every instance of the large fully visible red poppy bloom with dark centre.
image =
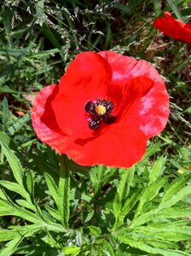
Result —
<instances>
[{"instance_id":1,"label":"large fully visible red poppy bloom with dark centre","mask_svg":"<svg viewBox=\"0 0 191 256\"><path fill-rule=\"evenodd\" d=\"M40 91L32 125L43 143L80 165L130 167L168 116L165 83L147 61L84 52L59 84Z\"/></svg>"}]
</instances>

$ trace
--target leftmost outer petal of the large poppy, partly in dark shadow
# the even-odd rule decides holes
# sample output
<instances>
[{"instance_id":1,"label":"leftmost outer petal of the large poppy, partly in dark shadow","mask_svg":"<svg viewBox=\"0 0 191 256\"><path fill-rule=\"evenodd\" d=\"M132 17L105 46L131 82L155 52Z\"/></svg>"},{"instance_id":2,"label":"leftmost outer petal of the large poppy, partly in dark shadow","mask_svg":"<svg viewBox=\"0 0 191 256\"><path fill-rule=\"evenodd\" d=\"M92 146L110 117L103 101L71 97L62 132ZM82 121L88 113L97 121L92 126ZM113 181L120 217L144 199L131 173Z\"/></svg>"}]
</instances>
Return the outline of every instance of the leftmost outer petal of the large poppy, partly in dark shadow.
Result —
<instances>
[{"instance_id":1,"label":"leftmost outer petal of the large poppy, partly in dark shadow","mask_svg":"<svg viewBox=\"0 0 191 256\"><path fill-rule=\"evenodd\" d=\"M55 120L55 113L51 108L51 101L58 91L58 85L51 84L41 90L32 107L32 125L38 138L64 153L68 139L61 131Z\"/></svg>"}]
</instances>

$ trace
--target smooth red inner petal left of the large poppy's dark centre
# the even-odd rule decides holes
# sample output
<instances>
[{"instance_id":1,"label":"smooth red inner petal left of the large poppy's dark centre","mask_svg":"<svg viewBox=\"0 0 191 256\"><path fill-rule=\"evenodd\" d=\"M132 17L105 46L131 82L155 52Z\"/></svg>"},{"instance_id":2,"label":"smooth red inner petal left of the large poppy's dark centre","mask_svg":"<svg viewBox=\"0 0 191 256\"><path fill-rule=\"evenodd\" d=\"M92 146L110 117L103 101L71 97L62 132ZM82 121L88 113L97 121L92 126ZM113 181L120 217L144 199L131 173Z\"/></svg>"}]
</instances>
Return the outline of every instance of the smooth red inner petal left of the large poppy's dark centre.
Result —
<instances>
[{"instance_id":1,"label":"smooth red inner petal left of the large poppy's dark centre","mask_svg":"<svg viewBox=\"0 0 191 256\"><path fill-rule=\"evenodd\" d=\"M92 137L84 106L104 98L110 89L112 70L108 62L94 52L77 55L61 78L59 93L52 102L55 118L62 131L71 137Z\"/></svg>"}]
</instances>

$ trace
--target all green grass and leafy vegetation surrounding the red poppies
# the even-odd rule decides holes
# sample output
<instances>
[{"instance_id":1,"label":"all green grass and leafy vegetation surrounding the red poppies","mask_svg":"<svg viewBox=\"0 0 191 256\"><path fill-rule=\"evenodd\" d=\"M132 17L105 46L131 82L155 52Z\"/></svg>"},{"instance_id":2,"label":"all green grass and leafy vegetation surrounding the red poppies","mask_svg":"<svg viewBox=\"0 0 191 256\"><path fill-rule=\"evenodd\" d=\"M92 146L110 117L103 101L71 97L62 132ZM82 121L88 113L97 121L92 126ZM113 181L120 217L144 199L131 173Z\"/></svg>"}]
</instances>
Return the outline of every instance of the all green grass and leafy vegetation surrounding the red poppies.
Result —
<instances>
[{"instance_id":1,"label":"all green grass and leafy vegetation surrounding the red poppies","mask_svg":"<svg viewBox=\"0 0 191 256\"><path fill-rule=\"evenodd\" d=\"M1 1L1 256L191 254L191 44L153 28L165 10L191 16L187 0ZM130 170L77 166L32 129L38 91L105 49L151 62L171 96L165 131Z\"/></svg>"}]
</instances>

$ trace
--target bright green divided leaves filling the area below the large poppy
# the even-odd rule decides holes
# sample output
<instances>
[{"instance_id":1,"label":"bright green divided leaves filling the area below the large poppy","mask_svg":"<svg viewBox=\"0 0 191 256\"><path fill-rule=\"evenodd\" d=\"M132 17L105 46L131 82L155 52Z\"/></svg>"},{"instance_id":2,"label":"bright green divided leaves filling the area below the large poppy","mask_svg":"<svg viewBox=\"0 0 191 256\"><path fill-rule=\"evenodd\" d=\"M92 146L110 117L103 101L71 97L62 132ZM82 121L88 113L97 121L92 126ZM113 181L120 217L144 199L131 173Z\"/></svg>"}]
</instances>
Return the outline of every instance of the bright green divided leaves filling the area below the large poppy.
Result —
<instances>
[{"instance_id":1,"label":"bright green divided leaves filling the area below the large poppy","mask_svg":"<svg viewBox=\"0 0 191 256\"><path fill-rule=\"evenodd\" d=\"M62 156L58 181L44 172L49 204L46 201L37 203L34 172L23 172L14 152L3 142L1 146L14 182L0 181L0 215L14 216L16 222L23 224L11 224L0 230L0 241L7 241L0 255L17 254L22 250L30 254L31 243L33 253L40 253L43 248L44 252L50 249L53 255L118 255L122 246L127 255L130 252L136 255L136 250L151 254L189 255L179 242L191 240L188 220L191 210L187 203L191 195L191 174L170 181L164 176L164 157L148 166L147 155L157 152L158 147L148 148L142 162L128 170L94 166L90 177L79 173L78 177L88 184L87 198L92 193L94 197L91 201L85 197L82 199L83 189L77 183L71 184L74 194L83 202L84 212L93 213L88 220L79 214L76 218L80 224L76 224L72 222L73 213L69 214L75 196L70 197L66 156ZM138 179L142 175L144 183ZM9 197L10 192L14 193L13 200ZM36 244L37 239L40 241Z\"/></svg>"}]
</instances>

